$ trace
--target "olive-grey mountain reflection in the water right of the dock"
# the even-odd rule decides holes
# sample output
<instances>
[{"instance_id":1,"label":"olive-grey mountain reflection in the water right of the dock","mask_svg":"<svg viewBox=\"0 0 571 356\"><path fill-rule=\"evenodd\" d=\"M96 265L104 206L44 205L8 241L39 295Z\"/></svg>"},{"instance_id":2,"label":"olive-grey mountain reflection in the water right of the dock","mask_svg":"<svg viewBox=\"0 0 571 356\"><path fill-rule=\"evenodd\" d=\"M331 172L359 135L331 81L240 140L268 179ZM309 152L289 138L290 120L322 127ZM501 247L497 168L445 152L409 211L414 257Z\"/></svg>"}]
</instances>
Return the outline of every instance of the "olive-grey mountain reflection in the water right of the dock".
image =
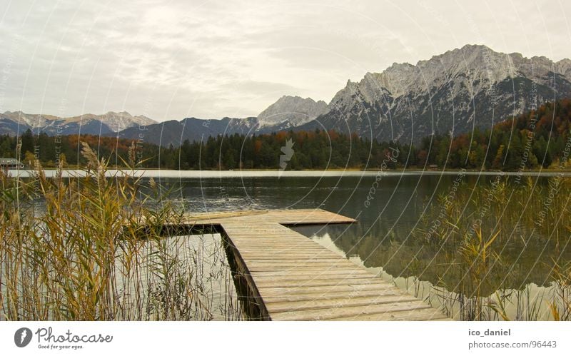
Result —
<instances>
[{"instance_id":1,"label":"olive-grey mountain reflection in the water right of the dock","mask_svg":"<svg viewBox=\"0 0 571 356\"><path fill-rule=\"evenodd\" d=\"M470 292L477 281L461 268L458 249L460 243L439 245L427 243L421 236L411 235L411 225L393 226L378 220L368 226L365 219L350 227L328 225L304 228L305 235L325 235L346 255L358 255L366 267L383 267L393 277L417 276L433 285L443 285L454 292ZM480 286L482 295L490 295L500 288L521 290L529 283L547 286L555 260L560 263L571 259L571 248L557 250L556 242L540 236L525 241L522 235L494 242L497 258L490 263L485 283ZM461 283L463 282L463 285Z\"/></svg>"}]
</instances>

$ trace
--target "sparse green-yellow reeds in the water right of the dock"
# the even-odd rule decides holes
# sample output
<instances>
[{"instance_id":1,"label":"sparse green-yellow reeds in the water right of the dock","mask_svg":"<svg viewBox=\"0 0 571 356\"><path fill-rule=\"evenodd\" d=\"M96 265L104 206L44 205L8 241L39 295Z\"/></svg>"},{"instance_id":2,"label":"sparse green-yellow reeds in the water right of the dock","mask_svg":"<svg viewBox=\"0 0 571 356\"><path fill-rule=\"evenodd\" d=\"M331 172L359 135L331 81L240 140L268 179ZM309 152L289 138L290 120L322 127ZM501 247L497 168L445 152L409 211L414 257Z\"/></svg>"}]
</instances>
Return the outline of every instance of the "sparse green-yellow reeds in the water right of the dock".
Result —
<instances>
[{"instance_id":1,"label":"sparse green-yellow reeds in the water right of the dock","mask_svg":"<svg viewBox=\"0 0 571 356\"><path fill-rule=\"evenodd\" d=\"M437 245L446 262L428 267L440 282L419 296L459 320L571 320L570 198L562 177L498 176L460 185L453 199L440 195L415 238ZM534 274L537 253L551 256L541 268L551 273Z\"/></svg>"}]
</instances>

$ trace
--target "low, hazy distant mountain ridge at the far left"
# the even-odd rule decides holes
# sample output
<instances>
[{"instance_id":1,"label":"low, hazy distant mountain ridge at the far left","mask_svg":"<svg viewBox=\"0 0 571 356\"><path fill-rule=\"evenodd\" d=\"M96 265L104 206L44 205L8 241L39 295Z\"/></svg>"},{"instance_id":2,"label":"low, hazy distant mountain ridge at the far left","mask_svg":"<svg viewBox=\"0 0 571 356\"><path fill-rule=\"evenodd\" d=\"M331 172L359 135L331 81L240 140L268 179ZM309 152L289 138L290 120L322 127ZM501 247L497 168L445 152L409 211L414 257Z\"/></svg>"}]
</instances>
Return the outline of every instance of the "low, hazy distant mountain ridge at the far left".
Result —
<instances>
[{"instance_id":1,"label":"low, hazy distant mountain ridge at the far left","mask_svg":"<svg viewBox=\"0 0 571 356\"><path fill-rule=\"evenodd\" d=\"M28 129L34 133L47 133L50 136L86 133L91 135L112 135L126 128L147 126L156 123L146 116L131 116L130 113L103 115L87 113L71 118L52 115L29 114L21 111L0 113L0 134L16 135Z\"/></svg>"}]
</instances>

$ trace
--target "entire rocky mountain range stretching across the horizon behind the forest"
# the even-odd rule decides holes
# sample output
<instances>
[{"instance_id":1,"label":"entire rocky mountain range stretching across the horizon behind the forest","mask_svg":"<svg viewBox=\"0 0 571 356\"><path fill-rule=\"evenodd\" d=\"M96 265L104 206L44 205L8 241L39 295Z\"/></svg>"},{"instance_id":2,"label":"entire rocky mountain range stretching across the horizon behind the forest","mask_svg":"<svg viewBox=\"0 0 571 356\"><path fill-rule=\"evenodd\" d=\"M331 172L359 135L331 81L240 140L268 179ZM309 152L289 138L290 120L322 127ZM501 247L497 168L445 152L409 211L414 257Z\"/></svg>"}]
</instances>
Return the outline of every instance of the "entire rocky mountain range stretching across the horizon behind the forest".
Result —
<instances>
[{"instance_id":1,"label":"entire rocky mountain range stretching across the horizon behind the forest","mask_svg":"<svg viewBox=\"0 0 571 356\"><path fill-rule=\"evenodd\" d=\"M333 129L379 141L418 142L434 133L457 135L571 96L571 60L525 58L466 45L431 59L394 63L348 81L329 103L282 96L256 117L156 123L128 113L74 118L0 114L0 134L31 128L49 135L91 133L178 146L219 134Z\"/></svg>"}]
</instances>

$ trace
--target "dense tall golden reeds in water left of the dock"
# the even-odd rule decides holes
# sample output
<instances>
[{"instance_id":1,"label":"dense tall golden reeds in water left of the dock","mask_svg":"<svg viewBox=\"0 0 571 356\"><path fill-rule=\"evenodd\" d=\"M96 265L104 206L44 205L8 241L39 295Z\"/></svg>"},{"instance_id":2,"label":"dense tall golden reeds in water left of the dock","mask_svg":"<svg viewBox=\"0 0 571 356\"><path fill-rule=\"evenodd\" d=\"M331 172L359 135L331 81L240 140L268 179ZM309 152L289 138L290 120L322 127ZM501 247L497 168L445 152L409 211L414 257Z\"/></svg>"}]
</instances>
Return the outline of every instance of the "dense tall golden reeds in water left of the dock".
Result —
<instances>
[{"instance_id":1,"label":"dense tall golden reeds in water left of the dock","mask_svg":"<svg viewBox=\"0 0 571 356\"><path fill-rule=\"evenodd\" d=\"M240 319L220 236L165 237L161 187L82 155L81 178L0 171L0 320Z\"/></svg>"}]
</instances>

